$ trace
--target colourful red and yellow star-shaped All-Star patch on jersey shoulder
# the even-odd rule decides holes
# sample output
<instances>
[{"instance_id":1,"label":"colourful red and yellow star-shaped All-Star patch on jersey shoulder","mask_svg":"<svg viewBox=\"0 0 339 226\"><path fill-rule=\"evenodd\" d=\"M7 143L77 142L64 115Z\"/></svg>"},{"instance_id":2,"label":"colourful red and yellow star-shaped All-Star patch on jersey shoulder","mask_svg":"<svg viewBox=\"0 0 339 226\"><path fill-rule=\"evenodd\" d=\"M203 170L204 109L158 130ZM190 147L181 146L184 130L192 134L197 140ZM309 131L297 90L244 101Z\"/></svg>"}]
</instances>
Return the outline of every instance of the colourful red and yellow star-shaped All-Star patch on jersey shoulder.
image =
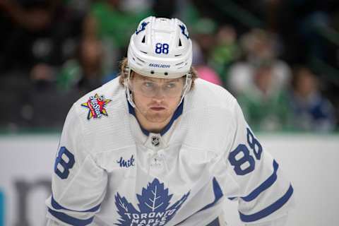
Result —
<instances>
[{"instance_id":1,"label":"colourful red and yellow star-shaped All-Star patch on jersey shoulder","mask_svg":"<svg viewBox=\"0 0 339 226\"><path fill-rule=\"evenodd\" d=\"M103 95L91 96L87 102L81 104L81 106L88 109L87 119L100 119L102 115L108 116L105 109L106 105L112 100L105 100Z\"/></svg>"}]
</instances>

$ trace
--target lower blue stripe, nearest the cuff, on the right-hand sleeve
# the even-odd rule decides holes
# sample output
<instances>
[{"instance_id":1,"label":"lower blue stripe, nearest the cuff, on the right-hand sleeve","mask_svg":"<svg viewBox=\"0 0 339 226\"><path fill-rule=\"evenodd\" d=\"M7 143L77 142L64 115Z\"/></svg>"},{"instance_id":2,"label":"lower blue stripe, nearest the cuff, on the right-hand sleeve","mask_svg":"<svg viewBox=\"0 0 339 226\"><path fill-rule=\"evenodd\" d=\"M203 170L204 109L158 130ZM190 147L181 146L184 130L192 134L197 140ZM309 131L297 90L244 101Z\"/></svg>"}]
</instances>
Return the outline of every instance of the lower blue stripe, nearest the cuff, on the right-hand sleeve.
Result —
<instances>
[{"instance_id":1,"label":"lower blue stripe, nearest the cuff, on the right-hand sleeve","mask_svg":"<svg viewBox=\"0 0 339 226\"><path fill-rule=\"evenodd\" d=\"M270 215L271 213L275 212L282 206L284 206L285 203L290 199L290 197L293 194L293 187L290 185L290 188L287 190L285 195L278 199L275 203L271 204L267 208L264 208L263 210L259 211L258 213L254 213L251 215L244 215L239 211L240 219L243 222L252 222L256 220L260 220L261 218L265 218L266 216Z\"/></svg>"}]
</instances>

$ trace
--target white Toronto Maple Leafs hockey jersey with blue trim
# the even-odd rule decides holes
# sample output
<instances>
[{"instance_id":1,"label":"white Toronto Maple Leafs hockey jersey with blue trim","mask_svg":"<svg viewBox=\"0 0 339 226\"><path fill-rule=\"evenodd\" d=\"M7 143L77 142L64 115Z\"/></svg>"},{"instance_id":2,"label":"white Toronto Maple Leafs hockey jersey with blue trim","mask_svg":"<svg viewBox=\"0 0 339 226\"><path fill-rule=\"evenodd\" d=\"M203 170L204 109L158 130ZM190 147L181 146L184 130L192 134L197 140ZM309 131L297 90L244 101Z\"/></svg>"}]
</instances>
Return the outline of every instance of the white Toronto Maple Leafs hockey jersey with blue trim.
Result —
<instances>
[{"instance_id":1,"label":"white Toronto Maple Leafs hockey jersey with blue trim","mask_svg":"<svg viewBox=\"0 0 339 226\"><path fill-rule=\"evenodd\" d=\"M213 225L225 198L242 222L274 220L292 194L227 90L197 79L165 129L150 133L114 79L71 107L46 204L59 225L196 226Z\"/></svg>"}]
</instances>

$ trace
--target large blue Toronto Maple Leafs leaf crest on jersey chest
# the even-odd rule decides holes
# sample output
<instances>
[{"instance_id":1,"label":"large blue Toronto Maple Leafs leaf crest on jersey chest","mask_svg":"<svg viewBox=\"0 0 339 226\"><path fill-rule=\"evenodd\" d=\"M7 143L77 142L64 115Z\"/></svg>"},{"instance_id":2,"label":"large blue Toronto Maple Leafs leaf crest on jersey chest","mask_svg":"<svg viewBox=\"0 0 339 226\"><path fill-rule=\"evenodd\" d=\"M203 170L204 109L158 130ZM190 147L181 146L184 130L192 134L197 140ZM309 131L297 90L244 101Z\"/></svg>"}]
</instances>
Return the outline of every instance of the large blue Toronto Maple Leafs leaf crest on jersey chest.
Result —
<instances>
[{"instance_id":1,"label":"large blue Toronto Maple Leafs leaf crest on jersey chest","mask_svg":"<svg viewBox=\"0 0 339 226\"><path fill-rule=\"evenodd\" d=\"M148 183L147 188L143 188L141 194L136 194L138 198L138 208L127 201L125 197L121 197L119 192L115 196L115 205L117 206L120 219L115 225L165 225L171 220L177 210L182 206L189 196L189 192L184 194L176 203L169 206L172 198L168 189L165 189L163 183L158 179L154 179L152 183Z\"/></svg>"}]
</instances>

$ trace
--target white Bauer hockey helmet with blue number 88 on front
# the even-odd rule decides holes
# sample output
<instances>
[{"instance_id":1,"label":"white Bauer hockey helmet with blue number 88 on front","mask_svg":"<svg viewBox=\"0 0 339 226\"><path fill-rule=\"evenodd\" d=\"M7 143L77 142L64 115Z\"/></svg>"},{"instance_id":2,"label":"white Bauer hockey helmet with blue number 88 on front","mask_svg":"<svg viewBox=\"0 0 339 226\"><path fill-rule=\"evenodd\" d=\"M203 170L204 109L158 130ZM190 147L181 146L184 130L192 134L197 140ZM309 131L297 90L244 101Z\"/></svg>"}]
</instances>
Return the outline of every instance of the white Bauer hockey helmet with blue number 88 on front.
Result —
<instances>
[{"instance_id":1,"label":"white Bauer hockey helmet with blue number 88 on front","mask_svg":"<svg viewBox=\"0 0 339 226\"><path fill-rule=\"evenodd\" d=\"M177 18L143 19L131 36L127 59L129 68L143 76L185 76L192 64L192 42L186 25Z\"/></svg>"}]
</instances>

